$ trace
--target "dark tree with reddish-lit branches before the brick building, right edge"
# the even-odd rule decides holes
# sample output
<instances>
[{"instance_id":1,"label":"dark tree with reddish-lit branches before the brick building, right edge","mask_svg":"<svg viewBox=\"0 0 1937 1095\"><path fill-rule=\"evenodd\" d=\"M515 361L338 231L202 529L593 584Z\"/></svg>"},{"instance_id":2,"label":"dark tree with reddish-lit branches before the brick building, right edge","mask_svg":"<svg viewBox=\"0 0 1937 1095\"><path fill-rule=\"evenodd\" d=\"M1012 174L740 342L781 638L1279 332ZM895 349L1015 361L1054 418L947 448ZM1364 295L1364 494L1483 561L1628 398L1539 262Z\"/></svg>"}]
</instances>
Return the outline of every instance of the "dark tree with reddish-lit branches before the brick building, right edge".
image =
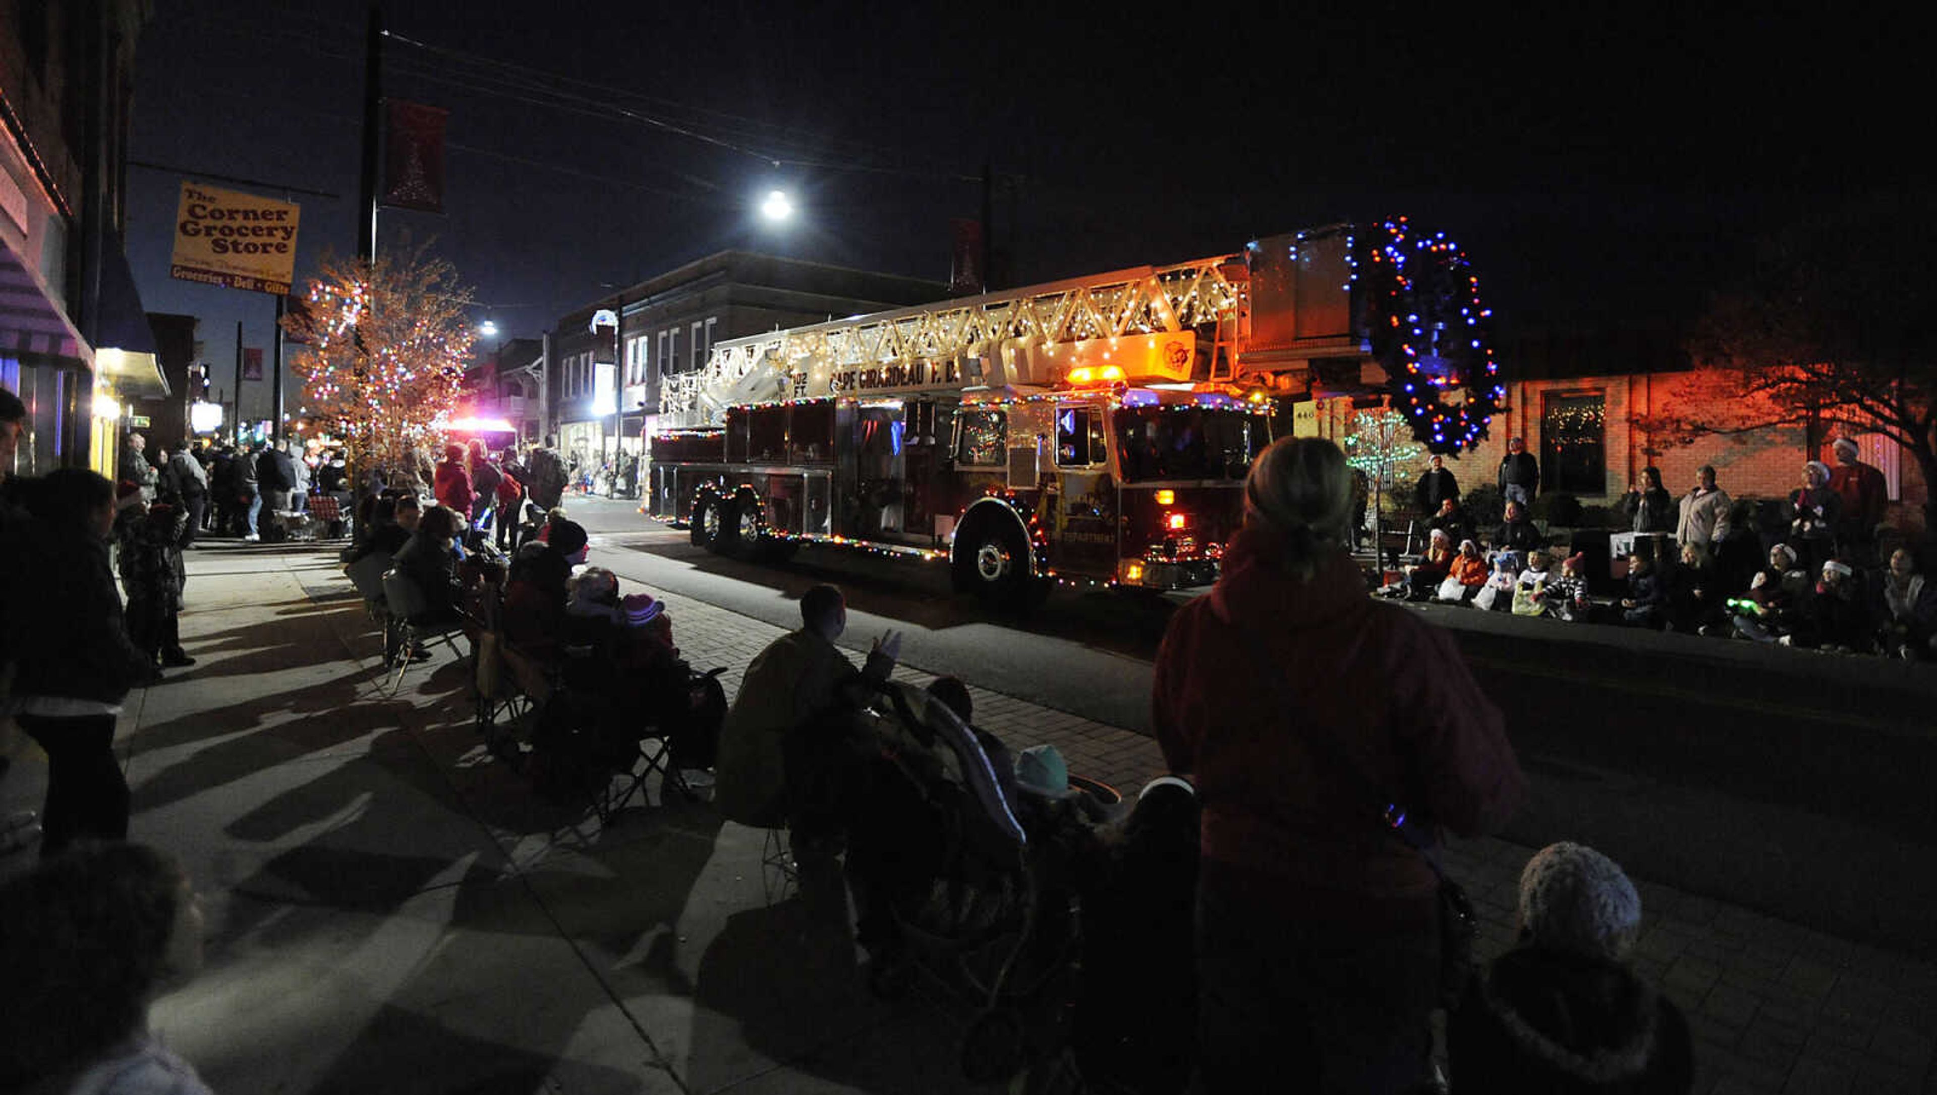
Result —
<instances>
[{"instance_id":1,"label":"dark tree with reddish-lit branches before the brick building, right edge","mask_svg":"<svg viewBox=\"0 0 1937 1095\"><path fill-rule=\"evenodd\" d=\"M1840 422L1937 484L1937 197L1871 197L1765 242L1697 325L1697 370L1637 418L1658 447ZM1815 437L1821 441L1821 435ZM1937 530L1925 501L1923 526Z\"/></svg>"}]
</instances>

